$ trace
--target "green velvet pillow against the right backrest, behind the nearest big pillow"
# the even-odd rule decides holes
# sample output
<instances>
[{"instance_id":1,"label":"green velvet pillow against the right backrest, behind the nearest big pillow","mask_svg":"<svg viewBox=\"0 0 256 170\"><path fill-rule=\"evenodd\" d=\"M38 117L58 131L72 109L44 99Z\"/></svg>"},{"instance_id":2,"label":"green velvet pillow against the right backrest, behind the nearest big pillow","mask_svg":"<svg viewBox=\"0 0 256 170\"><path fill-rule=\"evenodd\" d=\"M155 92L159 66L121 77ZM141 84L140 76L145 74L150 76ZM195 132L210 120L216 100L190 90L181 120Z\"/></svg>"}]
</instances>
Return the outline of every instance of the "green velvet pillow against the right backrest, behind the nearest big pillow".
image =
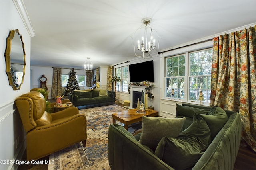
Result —
<instances>
[{"instance_id":1,"label":"green velvet pillow against the right backrest, behind the nearest big pillow","mask_svg":"<svg viewBox=\"0 0 256 170\"><path fill-rule=\"evenodd\" d=\"M211 131L211 139L214 139L220 129L222 129L222 127L228 121L228 115L222 108L218 106L212 107L207 115L200 115L197 113L194 114L194 121L199 117L202 117L209 126Z\"/></svg>"}]
</instances>

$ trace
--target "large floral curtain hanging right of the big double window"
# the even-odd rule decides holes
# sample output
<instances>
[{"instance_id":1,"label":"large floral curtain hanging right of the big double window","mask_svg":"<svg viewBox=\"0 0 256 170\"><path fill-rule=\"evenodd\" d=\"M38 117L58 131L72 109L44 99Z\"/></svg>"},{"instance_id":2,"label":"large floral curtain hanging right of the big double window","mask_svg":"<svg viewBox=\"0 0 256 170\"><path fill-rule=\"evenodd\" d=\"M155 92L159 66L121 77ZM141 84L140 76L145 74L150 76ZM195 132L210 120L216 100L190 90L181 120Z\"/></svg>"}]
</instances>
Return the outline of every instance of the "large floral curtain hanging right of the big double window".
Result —
<instances>
[{"instance_id":1,"label":"large floral curtain hanging right of the big double window","mask_svg":"<svg viewBox=\"0 0 256 170\"><path fill-rule=\"evenodd\" d=\"M247 143L256 152L255 29L214 38L210 106L237 111L242 122L241 145Z\"/></svg>"}]
</instances>

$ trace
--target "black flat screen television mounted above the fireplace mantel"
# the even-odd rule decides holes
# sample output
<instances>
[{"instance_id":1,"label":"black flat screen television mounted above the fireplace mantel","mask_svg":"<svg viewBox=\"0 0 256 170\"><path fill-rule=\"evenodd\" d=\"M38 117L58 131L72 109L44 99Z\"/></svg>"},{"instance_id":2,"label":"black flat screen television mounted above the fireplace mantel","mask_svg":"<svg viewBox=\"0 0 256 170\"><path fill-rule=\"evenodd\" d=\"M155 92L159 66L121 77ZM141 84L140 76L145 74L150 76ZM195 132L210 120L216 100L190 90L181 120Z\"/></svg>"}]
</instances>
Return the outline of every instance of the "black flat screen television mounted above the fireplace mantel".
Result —
<instances>
[{"instance_id":1,"label":"black flat screen television mounted above the fireplace mantel","mask_svg":"<svg viewBox=\"0 0 256 170\"><path fill-rule=\"evenodd\" d=\"M130 82L155 82L153 60L129 65L129 73Z\"/></svg>"}]
</instances>

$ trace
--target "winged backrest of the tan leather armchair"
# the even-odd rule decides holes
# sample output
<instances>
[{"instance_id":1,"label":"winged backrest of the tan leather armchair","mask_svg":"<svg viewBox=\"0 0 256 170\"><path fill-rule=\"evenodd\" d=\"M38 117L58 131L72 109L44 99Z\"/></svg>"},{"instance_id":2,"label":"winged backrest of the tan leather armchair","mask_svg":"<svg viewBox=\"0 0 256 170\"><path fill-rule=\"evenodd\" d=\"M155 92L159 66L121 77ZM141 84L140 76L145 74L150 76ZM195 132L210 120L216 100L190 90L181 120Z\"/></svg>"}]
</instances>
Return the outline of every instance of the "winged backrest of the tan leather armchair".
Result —
<instances>
[{"instance_id":1,"label":"winged backrest of the tan leather armchair","mask_svg":"<svg viewBox=\"0 0 256 170\"><path fill-rule=\"evenodd\" d=\"M15 104L26 132L34 129L37 126L35 121L45 112L44 96L40 92L31 91L16 98Z\"/></svg>"}]
</instances>

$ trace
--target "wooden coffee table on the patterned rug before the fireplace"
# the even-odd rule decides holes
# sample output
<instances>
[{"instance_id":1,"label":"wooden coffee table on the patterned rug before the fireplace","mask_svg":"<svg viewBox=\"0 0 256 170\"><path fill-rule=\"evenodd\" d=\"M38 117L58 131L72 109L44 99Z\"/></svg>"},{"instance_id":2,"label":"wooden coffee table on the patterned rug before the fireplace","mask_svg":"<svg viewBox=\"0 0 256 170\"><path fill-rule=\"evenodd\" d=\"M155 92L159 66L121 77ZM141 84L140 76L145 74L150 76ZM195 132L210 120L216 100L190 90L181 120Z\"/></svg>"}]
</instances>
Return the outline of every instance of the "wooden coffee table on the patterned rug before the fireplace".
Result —
<instances>
[{"instance_id":1,"label":"wooden coffee table on the patterned rug before the fireplace","mask_svg":"<svg viewBox=\"0 0 256 170\"><path fill-rule=\"evenodd\" d=\"M142 121L142 116L154 117L158 115L158 111L148 109L146 113L136 113L136 109L131 109L127 111L121 111L118 113L113 113L113 124L116 123L116 120L124 123L124 128L128 130L128 125Z\"/></svg>"}]
</instances>

